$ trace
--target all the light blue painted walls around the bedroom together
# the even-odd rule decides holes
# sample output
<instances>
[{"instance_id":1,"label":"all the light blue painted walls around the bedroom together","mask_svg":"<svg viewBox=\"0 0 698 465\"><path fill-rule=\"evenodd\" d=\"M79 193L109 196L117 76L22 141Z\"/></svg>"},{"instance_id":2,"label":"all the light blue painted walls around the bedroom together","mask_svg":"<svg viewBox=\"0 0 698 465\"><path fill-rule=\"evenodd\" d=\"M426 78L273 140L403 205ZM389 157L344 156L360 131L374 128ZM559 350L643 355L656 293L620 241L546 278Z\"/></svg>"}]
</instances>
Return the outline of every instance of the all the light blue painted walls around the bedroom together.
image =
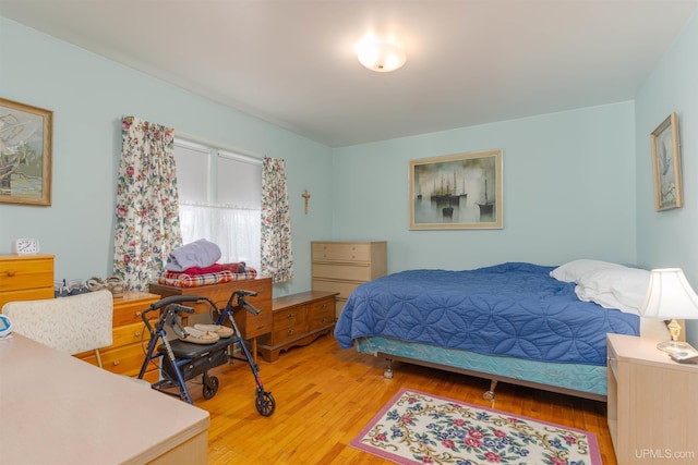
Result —
<instances>
[{"instance_id":1,"label":"all the light blue painted walls around the bedroom together","mask_svg":"<svg viewBox=\"0 0 698 465\"><path fill-rule=\"evenodd\" d=\"M0 205L0 253L37 237L58 279L111 272L119 121L133 114L287 160L297 276L277 295L310 289L310 242L328 238L388 241L389 271L592 257L678 266L698 286L697 51L694 16L635 101L333 150L0 17L0 96L55 115L53 205ZM649 134L672 111L685 207L657 213ZM503 230L408 230L410 159L492 148L504 151Z\"/></svg>"}]
</instances>

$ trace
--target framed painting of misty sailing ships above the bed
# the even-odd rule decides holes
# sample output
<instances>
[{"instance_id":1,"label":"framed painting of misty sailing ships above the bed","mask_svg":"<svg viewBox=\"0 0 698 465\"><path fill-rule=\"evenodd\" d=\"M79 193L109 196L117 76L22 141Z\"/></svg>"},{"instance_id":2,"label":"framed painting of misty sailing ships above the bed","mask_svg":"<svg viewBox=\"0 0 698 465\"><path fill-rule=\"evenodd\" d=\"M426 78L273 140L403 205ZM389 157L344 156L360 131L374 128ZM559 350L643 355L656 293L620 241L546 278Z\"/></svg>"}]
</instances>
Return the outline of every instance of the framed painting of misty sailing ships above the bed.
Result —
<instances>
[{"instance_id":1,"label":"framed painting of misty sailing ships above the bed","mask_svg":"<svg viewBox=\"0 0 698 465\"><path fill-rule=\"evenodd\" d=\"M410 230L502 229L502 150L410 160Z\"/></svg>"}]
</instances>

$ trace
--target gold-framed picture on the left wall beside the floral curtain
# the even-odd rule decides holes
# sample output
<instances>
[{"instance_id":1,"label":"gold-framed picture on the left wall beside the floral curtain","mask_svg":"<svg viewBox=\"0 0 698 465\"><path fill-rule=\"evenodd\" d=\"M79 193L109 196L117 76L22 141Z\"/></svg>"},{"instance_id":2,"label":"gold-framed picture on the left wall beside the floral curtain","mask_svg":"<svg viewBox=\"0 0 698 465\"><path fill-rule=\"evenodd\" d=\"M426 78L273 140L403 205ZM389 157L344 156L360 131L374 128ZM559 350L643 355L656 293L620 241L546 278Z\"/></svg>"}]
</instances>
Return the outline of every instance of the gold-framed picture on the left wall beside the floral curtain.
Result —
<instances>
[{"instance_id":1,"label":"gold-framed picture on the left wall beside the floral curtain","mask_svg":"<svg viewBox=\"0 0 698 465\"><path fill-rule=\"evenodd\" d=\"M53 112L0 98L0 204L51 205Z\"/></svg>"}]
</instances>

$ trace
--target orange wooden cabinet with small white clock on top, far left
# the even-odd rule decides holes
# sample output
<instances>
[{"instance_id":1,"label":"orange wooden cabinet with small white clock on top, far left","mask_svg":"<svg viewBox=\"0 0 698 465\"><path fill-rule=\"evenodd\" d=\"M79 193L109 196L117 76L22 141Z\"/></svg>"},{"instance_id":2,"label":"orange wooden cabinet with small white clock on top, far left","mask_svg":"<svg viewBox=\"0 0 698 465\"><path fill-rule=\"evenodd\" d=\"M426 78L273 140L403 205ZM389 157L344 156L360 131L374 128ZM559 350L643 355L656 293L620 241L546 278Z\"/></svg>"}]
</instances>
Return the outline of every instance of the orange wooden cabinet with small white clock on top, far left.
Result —
<instances>
[{"instance_id":1,"label":"orange wooden cabinet with small white clock on top, far left","mask_svg":"<svg viewBox=\"0 0 698 465\"><path fill-rule=\"evenodd\" d=\"M0 255L0 311L13 301L53 298L52 255Z\"/></svg>"}]
</instances>

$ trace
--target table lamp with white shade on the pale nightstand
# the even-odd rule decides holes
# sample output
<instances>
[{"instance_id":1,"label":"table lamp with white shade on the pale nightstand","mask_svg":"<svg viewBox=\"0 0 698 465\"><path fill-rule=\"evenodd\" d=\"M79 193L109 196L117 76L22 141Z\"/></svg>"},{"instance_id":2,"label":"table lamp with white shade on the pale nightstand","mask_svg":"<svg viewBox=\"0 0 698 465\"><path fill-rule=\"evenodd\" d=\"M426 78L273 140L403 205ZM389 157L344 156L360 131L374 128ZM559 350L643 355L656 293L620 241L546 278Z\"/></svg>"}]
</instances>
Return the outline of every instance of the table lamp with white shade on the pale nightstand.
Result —
<instances>
[{"instance_id":1,"label":"table lamp with white shade on the pale nightstand","mask_svg":"<svg viewBox=\"0 0 698 465\"><path fill-rule=\"evenodd\" d=\"M664 352L682 352L691 346L678 341L681 326L676 319L698 319L698 295L679 268L663 268L650 272L650 283L640 306L640 315L657 320L671 320L671 341L657 344Z\"/></svg>"}]
</instances>

